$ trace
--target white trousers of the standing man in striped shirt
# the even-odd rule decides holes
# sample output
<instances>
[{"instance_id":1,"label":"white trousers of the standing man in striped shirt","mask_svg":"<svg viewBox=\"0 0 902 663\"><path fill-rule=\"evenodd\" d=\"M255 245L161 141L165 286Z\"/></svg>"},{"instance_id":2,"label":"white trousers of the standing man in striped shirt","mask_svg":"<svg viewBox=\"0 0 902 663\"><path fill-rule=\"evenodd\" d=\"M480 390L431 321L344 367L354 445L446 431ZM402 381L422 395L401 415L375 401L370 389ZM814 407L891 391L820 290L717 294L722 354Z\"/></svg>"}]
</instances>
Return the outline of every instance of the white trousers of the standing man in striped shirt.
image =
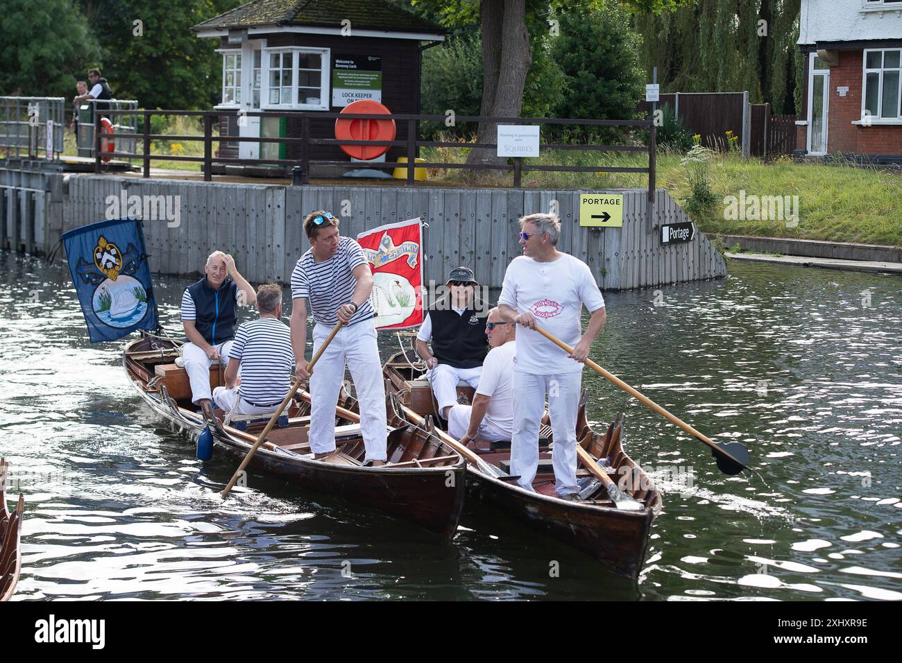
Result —
<instances>
[{"instance_id":1,"label":"white trousers of the standing man in striped shirt","mask_svg":"<svg viewBox=\"0 0 902 663\"><path fill-rule=\"evenodd\" d=\"M332 327L326 325L313 327L314 355L331 331ZM336 405L338 391L345 380L345 364L351 371L360 406L360 425L366 446L364 462L386 460L385 385L373 320L339 329L313 367L310 376L310 450L315 454L327 454L336 449Z\"/></svg>"}]
</instances>

